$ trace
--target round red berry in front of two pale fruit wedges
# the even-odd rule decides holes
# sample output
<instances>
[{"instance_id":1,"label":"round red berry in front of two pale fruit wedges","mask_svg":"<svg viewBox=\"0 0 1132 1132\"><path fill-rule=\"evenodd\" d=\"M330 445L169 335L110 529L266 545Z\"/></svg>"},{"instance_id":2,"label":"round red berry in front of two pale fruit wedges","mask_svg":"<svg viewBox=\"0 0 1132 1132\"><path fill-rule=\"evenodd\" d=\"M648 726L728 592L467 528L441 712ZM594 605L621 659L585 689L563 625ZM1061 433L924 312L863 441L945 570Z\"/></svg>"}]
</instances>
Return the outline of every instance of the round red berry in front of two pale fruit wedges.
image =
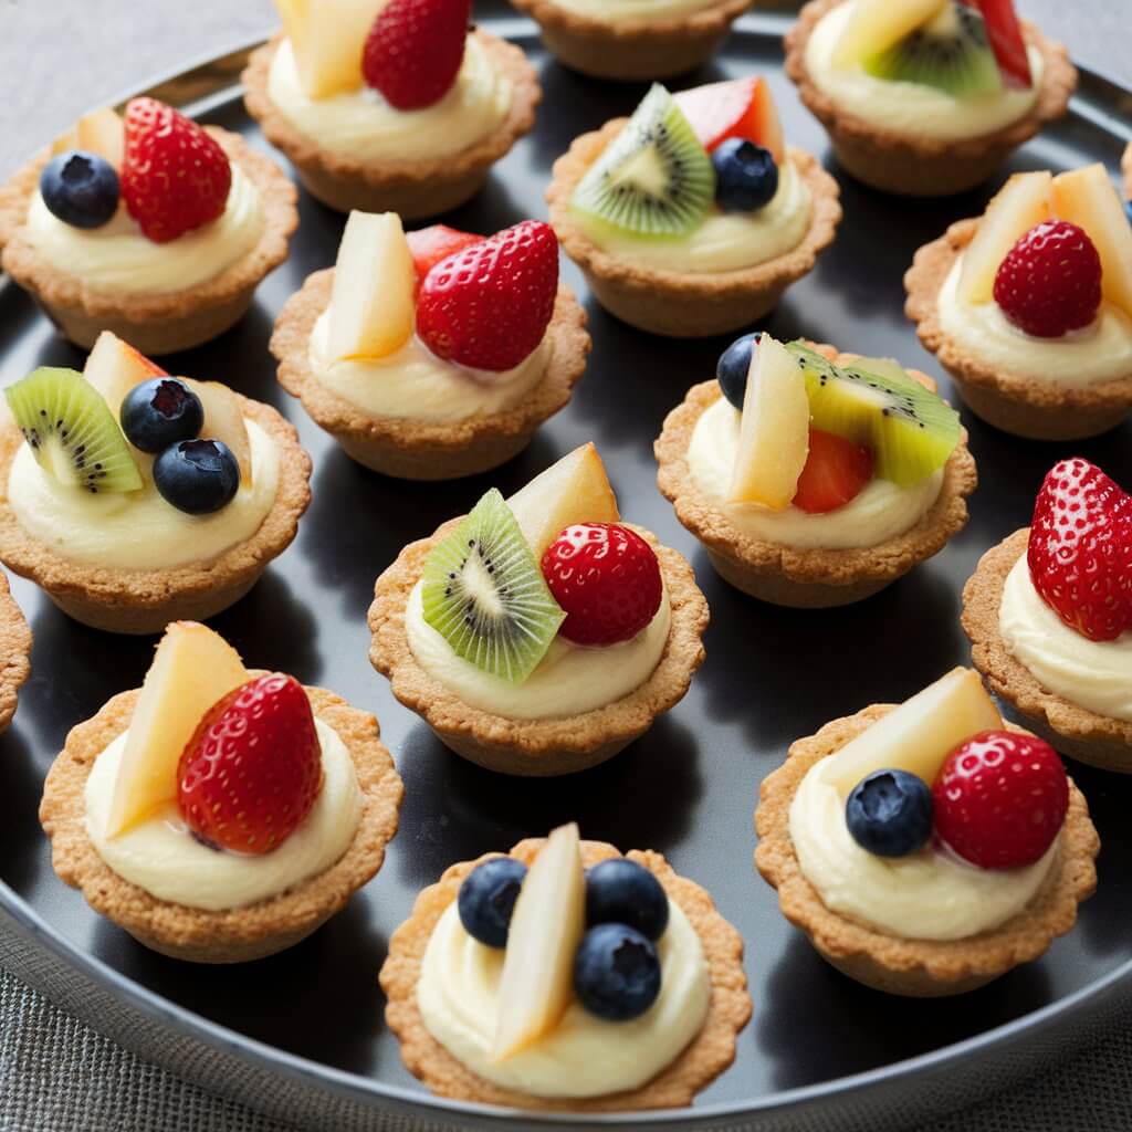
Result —
<instances>
[{"instance_id":1,"label":"round red berry in front of two pale fruit wedges","mask_svg":"<svg viewBox=\"0 0 1132 1132\"><path fill-rule=\"evenodd\" d=\"M1100 308L1100 256L1084 229L1046 220L998 265L994 300L1015 326L1039 338L1079 331Z\"/></svg>"}]
</instances>

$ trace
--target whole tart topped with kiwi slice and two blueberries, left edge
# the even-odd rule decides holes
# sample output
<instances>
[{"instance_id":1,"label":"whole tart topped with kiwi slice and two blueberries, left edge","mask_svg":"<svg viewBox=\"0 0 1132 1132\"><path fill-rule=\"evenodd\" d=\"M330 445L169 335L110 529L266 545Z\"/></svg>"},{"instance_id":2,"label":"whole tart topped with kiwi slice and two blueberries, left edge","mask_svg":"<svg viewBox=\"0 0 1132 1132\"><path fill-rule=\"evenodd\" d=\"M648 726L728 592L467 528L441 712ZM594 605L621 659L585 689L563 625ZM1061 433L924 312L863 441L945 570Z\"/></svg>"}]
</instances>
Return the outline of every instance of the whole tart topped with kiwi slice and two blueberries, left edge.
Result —
<instances>
[{"instance_id":1,"label":"whole tart topped with kiwi slice and two blueberries, left edge","mask_svg":"<svg viewBox=\"0 0 1132 1132\"><path fill-rule=\"evenodd\" d=\"M274 409L170 377L110 331L83 374L41 367L3 392L0 559L94 628L226 609L310 501L310 457Z\"/></svg>"}]
</instances>

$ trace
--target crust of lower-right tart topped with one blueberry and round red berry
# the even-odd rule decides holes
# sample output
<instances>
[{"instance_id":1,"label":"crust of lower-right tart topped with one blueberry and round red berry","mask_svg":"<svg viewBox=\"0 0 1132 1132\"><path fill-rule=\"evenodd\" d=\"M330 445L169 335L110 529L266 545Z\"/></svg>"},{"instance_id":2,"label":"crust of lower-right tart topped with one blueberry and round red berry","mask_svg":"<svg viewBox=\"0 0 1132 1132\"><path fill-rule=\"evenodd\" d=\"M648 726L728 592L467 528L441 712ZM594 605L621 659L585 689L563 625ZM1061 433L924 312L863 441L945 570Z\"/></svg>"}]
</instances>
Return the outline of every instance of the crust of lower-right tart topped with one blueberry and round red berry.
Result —
<instances>
[{"instance_id":1,"label":"crust of lower-right tart topped with one blueberry and round red berry","mask_svg":"<svg viewBox=\"0 0 1132 1132\"><path fill-rule=\"evenodd\" d=\"M877 990L912 997L961 994L1037 959L1055 937L1073 927L1077 906L1097 885L1094 860L1100 839L1089 818L1084 795L1071 780L1056 863L1034 899L1005 924L966 940L904 940L831 911L803 875L790 837L790 804L815 763L839 751L894 706L873 704L790 745L787 761L766 777L760 790L755 866L763 880L778 889L782 915L809 936L824 959L850 978Z\"/></svg>"}]
</instances>

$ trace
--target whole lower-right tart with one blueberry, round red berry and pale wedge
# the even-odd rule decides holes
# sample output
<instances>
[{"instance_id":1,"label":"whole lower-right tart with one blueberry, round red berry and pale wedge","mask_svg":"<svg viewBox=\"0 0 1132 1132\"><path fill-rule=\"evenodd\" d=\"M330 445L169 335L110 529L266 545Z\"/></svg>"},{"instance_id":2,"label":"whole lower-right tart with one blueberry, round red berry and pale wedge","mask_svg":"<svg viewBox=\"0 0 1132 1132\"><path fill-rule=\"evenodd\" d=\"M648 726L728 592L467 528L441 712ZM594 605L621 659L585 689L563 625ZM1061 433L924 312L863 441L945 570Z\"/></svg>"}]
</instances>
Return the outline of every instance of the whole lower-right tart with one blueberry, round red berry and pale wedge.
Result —
<instances>
[{"instance_id":1,"label":"whole lower-right tart with one blueberry, round red berry and pale wedge","mask_svg":"<svg viewBox=\"0 0 1132 1132\"><path fill-rule=\"evenodd\" d=\"M1083 795L963 668L794 743L755 829L782 915L890 994L961 994L1037 959L1097 884Z\"/></svg>"}]
</instances>

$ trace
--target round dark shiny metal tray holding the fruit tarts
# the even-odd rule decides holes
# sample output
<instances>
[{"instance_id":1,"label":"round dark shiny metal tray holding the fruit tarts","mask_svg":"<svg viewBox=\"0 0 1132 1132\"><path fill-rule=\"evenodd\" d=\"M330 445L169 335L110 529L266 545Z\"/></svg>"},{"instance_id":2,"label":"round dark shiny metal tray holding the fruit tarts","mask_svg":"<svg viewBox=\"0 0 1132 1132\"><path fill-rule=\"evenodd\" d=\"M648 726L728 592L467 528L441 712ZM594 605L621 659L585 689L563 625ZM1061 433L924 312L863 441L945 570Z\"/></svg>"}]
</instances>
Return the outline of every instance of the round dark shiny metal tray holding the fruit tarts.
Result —
<instances>
[{"instance_id":1,"label":"round dark shiny metal tray holding the fruit tarts","mask_svg":"<svg viewBox=\"0 0 1132 1132\"><path fill-rule=\"evenodd\" d=\"M494 231L544 215L551 162L578 132L628 112L642 88L582 78L549 60L533 25L501 3L482 23L515 38L538 66L546 98L535 134L496 168L486 190L448 218ZM683 85L752 69L774 88L787 136L816 153L825 138L781 74L787 17L748 16L717 61ZM157 89L208 121L265 143L234 83L245 51L182 72ZM1132 95L1084 72L1071 115L1010 169L1105 161L1132 136ZM833 168L837 173L835 166ZM1003 175L1009 170L1003 171ZM846 221L816 271L766 323L890 354L940 376L904 319L901 277L915 249L989 189L942 203L881 196L841 178ZM978 556L1028 521L1049 464L1083 452L1132 483L1132 426L1084 445L1013 439L964 414L981 486L971 523L937 558L872 600L843 610L761 604L722 583L655 488L652 441L693 381L711 376L723 341L650 337L607 316L578 272L594 352L571 405L505 468L472 480L412 484L352 463L288 398L267 353L272 321L311 271L331 264L342 217L308 197L290 260L251 314L171 368L218 378L282 409L315 458L314 503L294 546L251 594L216 618L250 663L281 668L372 709L405 779L401 831L385 867L349 908L291 951L235 969L156 955L89 911L51 871L37 820L43 775L67 730L108 696L136 687L152 642L68 620L31 584L17 599L35 632L32 678L0 740L0 962L67 1009L181 1077L311 1127L550 1127L532 1118L438 1101L403 1069L383 1023L377 971L389 934L418 891L451 863L503 849L578 818L583 834L653 848L705 884L743 932L755 1003L735 1065L694 1108L591 1117L588 1125L713 1129L897 1129L1007 1084L1132 1009L1132 829L1125 780L1074 766L1105 843L1100 887L1074 932L1031 963L954 1001L909 1002L864 989L827 968L779 915L752 865L758 783L787 745L824 721L901 700L968 661L959 591ZM0 379L42 363L80 365L32 301L0 283ZM943 381L946 389L946 380ZM397 704L367 660L375 577L401 547L464 512L490 484L512 491L575 445L597 441L625 514L689 556L712 609L709 659L687 698L617 758L584 774L517 780L448 753Z\"/></svg>"}]
</instances>

